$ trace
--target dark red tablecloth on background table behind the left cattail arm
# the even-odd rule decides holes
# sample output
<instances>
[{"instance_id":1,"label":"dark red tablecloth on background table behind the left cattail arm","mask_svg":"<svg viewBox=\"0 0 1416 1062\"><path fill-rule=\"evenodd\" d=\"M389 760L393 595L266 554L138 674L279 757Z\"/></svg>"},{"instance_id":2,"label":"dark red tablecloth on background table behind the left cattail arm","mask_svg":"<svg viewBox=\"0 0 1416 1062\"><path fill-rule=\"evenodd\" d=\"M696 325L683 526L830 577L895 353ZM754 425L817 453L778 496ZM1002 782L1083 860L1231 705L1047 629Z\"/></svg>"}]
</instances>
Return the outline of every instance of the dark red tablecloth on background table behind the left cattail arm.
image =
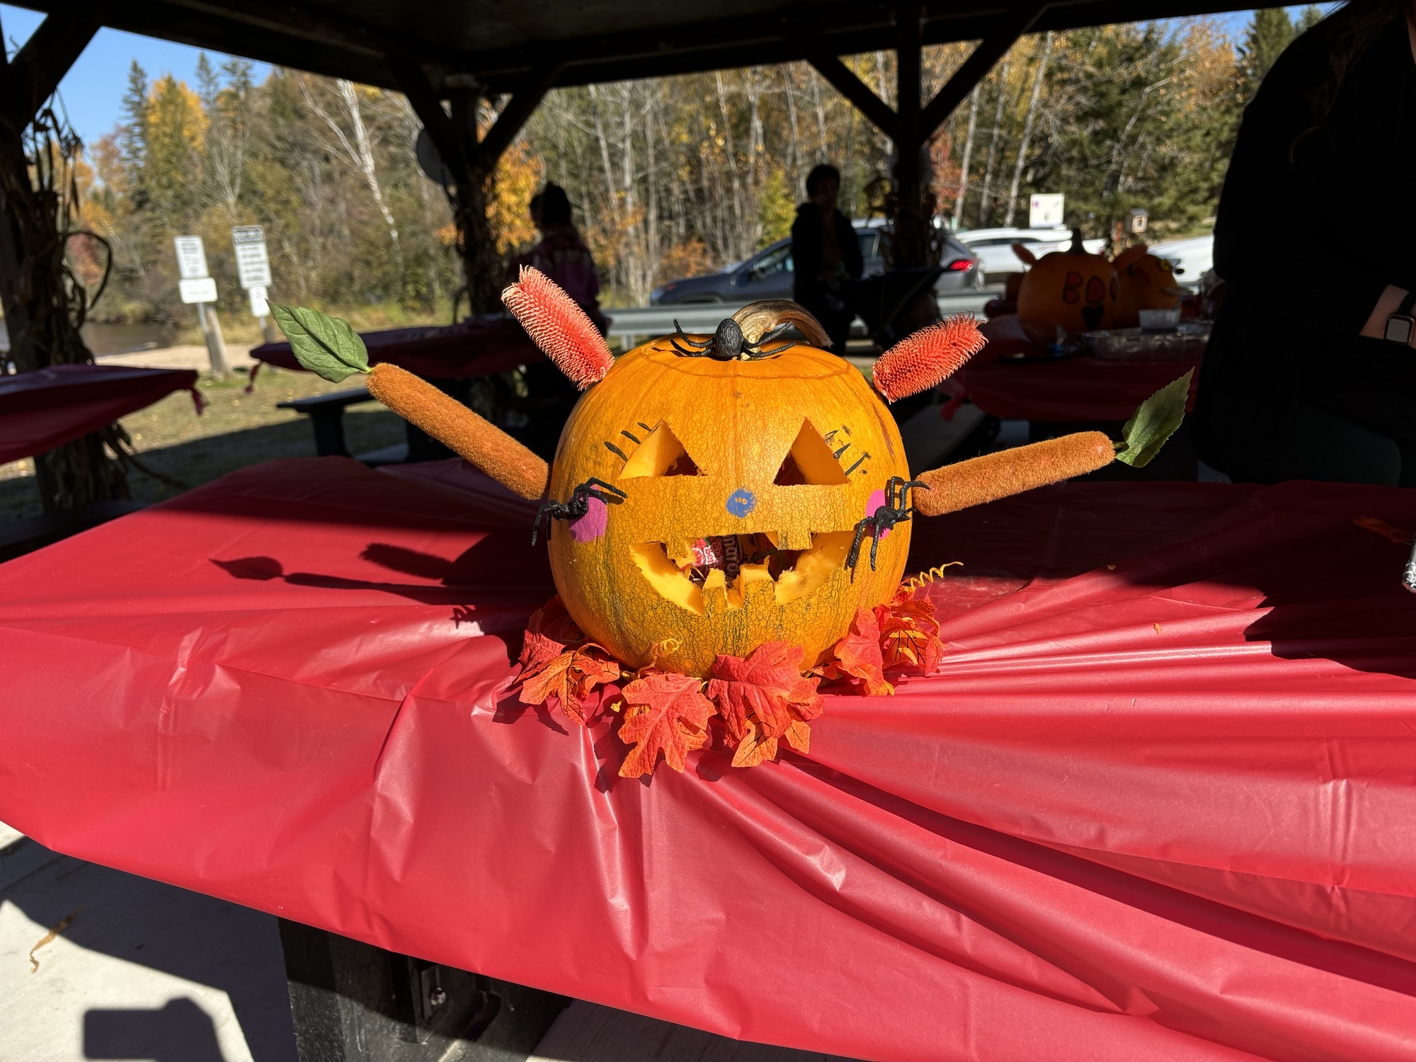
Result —
<instances>
[{"instance_id":1,"label":"dark red tablecloth on background table behind the left cattail arm","mask_svg":"<svg viewBox=\"0 0 1416 1062\"><path fill-rule=\"evenodd\" d=\"M413 375L462 379L532 365L545 355L511 317L483 317L460 324L361 331L370 364L389 361ZM251 357L269 365L300 370L289 343L265 343ZM252 370L253 372L253 370Z\"/></svg>"}]
</instances>

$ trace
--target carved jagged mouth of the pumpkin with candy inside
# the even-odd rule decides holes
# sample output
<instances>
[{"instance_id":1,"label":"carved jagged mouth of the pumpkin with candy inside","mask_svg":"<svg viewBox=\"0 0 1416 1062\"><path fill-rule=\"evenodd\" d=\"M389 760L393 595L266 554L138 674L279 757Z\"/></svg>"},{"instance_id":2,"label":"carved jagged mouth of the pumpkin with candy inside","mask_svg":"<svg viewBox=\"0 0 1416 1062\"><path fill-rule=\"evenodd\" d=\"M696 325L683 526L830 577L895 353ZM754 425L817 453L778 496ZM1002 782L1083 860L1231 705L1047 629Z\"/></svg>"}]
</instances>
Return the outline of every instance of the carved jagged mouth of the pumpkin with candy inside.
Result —
<instances>
[{"instance_id":1,"label":"carved jagged mouth of the pumpkin with candy inside","mask_svg":"<svg viewBox=\"0 0 1416 1062\"><path fill-rule=\"evenodd\" d=\"M630 547L634 564L664 598L704 615L707 602L724 595L726 607L750 606L760 593L777 605L797 600L823 586L845 564L851 531L811 534L806 549L779 549L782 535L759 532Z\"/></svg>"}]
</instances>

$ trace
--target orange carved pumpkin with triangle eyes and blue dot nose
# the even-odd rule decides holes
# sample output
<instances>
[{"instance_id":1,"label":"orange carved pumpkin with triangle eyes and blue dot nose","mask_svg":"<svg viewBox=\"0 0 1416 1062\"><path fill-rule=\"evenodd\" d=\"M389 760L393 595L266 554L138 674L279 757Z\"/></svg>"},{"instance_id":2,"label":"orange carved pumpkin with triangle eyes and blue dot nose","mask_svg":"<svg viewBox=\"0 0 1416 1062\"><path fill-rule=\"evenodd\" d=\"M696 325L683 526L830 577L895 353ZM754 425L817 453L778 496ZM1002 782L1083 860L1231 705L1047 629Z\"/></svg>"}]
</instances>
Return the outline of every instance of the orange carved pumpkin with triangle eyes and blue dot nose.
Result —
<instances>
[{"instance_id":1,"label":"orange carved pumpkin with triangle eyes and blue dot nose","mask_svg":"<svg viewBox=\"0 0 1416 1062\"><path fill-rule=\"evenodd\" d=\"M555 585L581 630L630 668L702 677L718 654L766 641L801 646L807 668L899 585L909 521L879 539L875 571L868 537L854 579L844 564L892 476L909 477L899 430L847 361L806 346L719 361L656 340L620 357L561 435L552 498L592 477L627 497L552 521ZM722 571L701 588L681 571L697 539L749 534L804 552L776 581L769 564L743 564L731 589Z\"/></svg>"}]
</instances>

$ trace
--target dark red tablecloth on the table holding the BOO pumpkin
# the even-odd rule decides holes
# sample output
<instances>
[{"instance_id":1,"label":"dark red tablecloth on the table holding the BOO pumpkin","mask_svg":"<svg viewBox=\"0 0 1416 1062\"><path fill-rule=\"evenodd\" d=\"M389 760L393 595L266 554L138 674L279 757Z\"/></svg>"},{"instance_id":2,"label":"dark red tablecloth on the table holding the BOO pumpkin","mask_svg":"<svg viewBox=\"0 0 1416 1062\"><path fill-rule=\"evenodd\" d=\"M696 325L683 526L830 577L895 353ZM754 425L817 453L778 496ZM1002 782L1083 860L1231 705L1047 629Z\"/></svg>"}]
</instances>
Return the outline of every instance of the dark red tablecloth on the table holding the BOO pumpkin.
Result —
<instances>
[{"instance_id":1,"label":"dark red tablecloth on the table holding the BOO pumpkin","mask_svg":"<svg viewBox=\"0 0 1416 1062\"><path fill-rule=\"evenodd\" d=\"M984 321L978 330L988 338L988 346L953 379L966 388L970 402L1004 419L1054 423L1124 421L1160 388L1198 365L1198 361L1097 361L1080 357L1000 361L1008 354L1042 357L1046 351L1024 336L1012 314ZM1197 372L1191 381L1191 405L1198 381Z\"/></svg>"}]
</instances>

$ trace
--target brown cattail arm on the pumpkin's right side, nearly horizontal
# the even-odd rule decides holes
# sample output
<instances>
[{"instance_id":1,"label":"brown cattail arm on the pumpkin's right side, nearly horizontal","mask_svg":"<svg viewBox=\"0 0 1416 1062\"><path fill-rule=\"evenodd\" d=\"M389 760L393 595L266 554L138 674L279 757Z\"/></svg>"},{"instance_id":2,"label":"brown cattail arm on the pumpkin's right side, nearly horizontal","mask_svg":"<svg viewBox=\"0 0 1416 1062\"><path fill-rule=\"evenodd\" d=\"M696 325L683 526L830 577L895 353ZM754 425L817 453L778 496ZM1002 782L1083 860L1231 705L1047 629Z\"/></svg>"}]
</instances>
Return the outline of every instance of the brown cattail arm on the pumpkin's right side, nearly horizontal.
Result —
<instances>
[{"instance_id":1,"label":"brown cattail arm on the pumpkin's right side, nearly horizontal","mask_svg":"<svg viewBox=\"0 0 1416 1062\"><path fill-rule=\"evenodd\" d=\"M922 515L942 517L1085 476L1110 464L1114 456L1116 446L1102 432L1063 435L926 472L915 479L929 490L916 489L910 500Z\"/></svg>"}]
</instances>

